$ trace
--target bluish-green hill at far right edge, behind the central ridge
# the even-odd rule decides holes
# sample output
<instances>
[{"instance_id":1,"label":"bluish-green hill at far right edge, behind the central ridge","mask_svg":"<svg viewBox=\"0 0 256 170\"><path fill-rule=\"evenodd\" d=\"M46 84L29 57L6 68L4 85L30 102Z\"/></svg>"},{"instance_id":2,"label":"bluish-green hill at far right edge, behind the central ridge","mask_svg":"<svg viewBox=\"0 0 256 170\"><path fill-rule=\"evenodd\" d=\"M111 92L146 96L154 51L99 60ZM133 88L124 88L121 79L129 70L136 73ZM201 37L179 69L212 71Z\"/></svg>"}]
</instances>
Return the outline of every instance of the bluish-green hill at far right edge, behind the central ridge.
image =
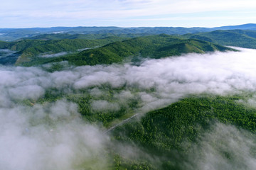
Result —
<instances>
[{"instance_id":1,"label":"bluish-green hill at far right edge, behind the central ridge","mask_svg":"<svg viewBox=\"0 0 256 170\"><path fill-rule=\"evenodd\" d=\"M187 34L183 37L206 40L220 45L256 48L256 30L215 30L207 33Z\"/></svg>"}]
</instances>

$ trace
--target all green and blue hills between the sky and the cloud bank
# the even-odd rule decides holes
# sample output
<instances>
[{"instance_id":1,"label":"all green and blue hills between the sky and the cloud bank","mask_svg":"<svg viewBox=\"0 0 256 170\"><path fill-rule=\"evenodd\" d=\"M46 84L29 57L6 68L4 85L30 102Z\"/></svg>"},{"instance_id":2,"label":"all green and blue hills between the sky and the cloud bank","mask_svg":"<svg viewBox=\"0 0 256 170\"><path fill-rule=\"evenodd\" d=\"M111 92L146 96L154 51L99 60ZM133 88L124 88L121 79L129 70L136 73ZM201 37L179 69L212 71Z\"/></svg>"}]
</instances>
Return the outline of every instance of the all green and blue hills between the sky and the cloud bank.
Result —
<instances>
[{"instance_id":1,"label":"all green and blue hills between the sky and the cloud bank","mask_svg":"<svg viewBox=\"0 0 256 170\"><path fill-rule=\"evenodd\" d=\"M231 50L221 45L256 49L256 24L218 28L55 27L0 31L20 37L11 42L0 41L0 64L23 66L61 61L75 65L139 62L139 57Z\"/></svg>"}]
</instances>

